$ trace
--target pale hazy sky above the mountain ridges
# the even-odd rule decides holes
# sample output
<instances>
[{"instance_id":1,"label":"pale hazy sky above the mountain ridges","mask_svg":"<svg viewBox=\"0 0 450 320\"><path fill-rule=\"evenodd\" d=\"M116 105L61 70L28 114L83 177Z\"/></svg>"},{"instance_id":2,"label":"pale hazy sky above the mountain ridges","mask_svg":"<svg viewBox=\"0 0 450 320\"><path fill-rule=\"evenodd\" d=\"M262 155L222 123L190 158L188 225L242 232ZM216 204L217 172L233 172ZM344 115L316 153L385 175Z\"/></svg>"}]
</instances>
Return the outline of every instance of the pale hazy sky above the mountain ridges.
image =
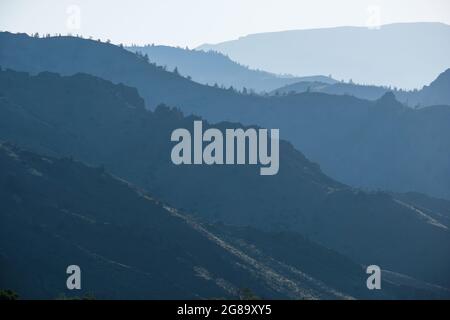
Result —
<instances>
[{"instance_id":1,"label":"pale hazy sky above the mountain ridges","mask_svg":"<svg viewBox=\"0 0 450 320\"><path fill-rule=\"evenodd\" d=\"M438 21L449 0L0 0L0 30L196 47L267 31Z\"/></svg>"}]
</instances>

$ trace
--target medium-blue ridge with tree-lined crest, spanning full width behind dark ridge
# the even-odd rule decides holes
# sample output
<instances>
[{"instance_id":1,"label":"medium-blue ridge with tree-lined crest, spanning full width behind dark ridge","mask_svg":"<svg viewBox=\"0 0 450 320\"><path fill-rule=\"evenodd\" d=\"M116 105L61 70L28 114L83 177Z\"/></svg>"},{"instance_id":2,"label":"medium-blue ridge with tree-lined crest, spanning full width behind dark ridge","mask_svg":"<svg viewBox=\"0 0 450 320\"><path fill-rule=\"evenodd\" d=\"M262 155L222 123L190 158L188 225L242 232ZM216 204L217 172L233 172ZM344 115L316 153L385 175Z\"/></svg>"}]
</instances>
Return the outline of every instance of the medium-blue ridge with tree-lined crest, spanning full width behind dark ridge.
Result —
<instances>
[{"instance_id":1,"label":"medium-blue ridge with tree-lined crest, spanning full width behind dark ridge","mask_svg":"<svg viewBox=\"0 0 450 320\"><path fill-rule=\"evenodd\" d=\"M0 66L33 74L85 72L136 87L152 110L166 103L212 122L279 128L282 138L346 184L450 198L448 106L384 108L378 101L317 92L238 94L166 72L120 47L73 37L1 33Z\"/></svg>"}]
</instances>

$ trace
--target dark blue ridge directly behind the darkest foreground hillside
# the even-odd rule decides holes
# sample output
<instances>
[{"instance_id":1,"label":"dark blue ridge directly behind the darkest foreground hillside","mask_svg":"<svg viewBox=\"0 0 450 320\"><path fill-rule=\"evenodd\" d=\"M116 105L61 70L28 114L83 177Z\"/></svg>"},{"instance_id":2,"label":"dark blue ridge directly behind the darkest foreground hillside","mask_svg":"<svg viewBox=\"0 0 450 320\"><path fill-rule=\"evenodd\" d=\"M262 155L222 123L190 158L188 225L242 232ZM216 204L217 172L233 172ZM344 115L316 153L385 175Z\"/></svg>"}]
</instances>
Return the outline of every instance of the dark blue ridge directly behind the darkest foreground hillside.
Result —
<instances>
[{"instance_id":1,"label":"dark blue ridge directly behind the darkest foreground hillside","mask_svg":"<svg viewBox=\"0 0 450 320\"><path fill-rule=\"evenodd\" d=\"M301 233L357 263L448 286L450 235L438 214L336 182L285 141L271 177L254 166L175 166L170 134L197 118L164 106L148 111L134 89L86 74L1 71L0 97L4 140L103 166L208 222ZM241 125L214 125L233 126Z\"/></svg>"}]
</instances>

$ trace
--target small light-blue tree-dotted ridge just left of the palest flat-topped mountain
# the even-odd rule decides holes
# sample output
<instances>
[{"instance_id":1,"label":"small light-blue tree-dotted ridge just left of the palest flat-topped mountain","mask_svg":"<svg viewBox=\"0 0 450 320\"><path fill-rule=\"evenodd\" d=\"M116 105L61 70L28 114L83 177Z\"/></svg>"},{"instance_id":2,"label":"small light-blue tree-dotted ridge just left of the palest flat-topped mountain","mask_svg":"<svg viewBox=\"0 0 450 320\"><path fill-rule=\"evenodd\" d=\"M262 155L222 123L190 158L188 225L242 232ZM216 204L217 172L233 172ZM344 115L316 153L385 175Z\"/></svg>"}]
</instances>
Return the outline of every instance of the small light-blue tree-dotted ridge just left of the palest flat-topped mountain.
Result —
<instances>
[{"instance_id":1,"label":"small light-blue tree-dotted ridge just left of the palest flat-topped mountain","mask_svg":"<svg viewBox=\"0 0 450 320\"><path fill-rule=\"evenodd\" d=\"M126 49L147 55L149 61L166 66L170 71L177 68L181 75L189 76L196 82L217 84L226 88L231 86L239 91L269 92L298 81L336 82L326 76L280 76L261 70L252 70L214 51L204 52L158 45L131 46Z\"/></svg>"}]
</instances>

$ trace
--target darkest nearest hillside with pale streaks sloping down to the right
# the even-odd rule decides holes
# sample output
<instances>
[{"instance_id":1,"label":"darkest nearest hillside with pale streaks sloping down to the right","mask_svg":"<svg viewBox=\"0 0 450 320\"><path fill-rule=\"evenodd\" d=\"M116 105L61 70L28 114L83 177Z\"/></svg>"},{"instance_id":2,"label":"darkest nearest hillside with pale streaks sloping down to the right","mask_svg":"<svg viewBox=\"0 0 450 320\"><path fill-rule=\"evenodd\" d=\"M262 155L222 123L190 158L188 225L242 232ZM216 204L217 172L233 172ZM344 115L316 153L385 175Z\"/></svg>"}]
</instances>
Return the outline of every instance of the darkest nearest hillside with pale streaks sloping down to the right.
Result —
<instances>
[{"instance_id":1,"label":"darkest nearest hillside with pale streaks sloping down to the right","mask_svg":"<svg viewBox=\"0 0 450 320\"><path fill-rule=\"evenodd\" d=\"M361 266L299 235L204 226L69 158L2 143L0 167L0 286L22 298L236 298L243 288L290 299L450 296L424 283L368 291ZM65 287L71 264L81 291Z\"/></svg>"}]
</instances>

